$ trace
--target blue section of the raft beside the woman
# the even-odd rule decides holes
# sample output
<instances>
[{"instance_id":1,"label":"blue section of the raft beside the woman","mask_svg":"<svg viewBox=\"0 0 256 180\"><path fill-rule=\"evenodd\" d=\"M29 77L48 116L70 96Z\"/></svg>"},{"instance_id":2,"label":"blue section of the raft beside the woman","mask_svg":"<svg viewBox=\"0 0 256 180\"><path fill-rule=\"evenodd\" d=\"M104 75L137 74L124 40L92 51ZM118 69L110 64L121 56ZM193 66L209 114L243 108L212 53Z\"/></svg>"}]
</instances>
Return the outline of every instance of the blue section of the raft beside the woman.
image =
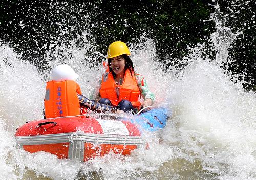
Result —
<instances>
[{"instance_id":1,"label":"blue section of the raft beside the woman","mask_svg":"<svg viewBox=\"0 0 256 180\"><path fill-rule=\"evenodd\" d=\"M168 116L164 108L151 109L140 115L135 115L130 121L139 125L143 131L157 131L165 127Z\"/></svg>"}]
</instances>

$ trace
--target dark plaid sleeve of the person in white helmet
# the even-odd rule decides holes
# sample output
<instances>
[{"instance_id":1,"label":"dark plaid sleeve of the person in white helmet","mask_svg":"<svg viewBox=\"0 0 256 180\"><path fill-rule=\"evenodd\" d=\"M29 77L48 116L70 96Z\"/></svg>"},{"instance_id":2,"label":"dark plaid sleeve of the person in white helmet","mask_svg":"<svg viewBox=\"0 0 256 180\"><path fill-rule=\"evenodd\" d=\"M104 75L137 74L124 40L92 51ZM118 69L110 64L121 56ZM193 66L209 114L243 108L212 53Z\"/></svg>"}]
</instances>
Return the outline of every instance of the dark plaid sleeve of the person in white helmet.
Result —
<instances>
[{"instance_id":1,"label":"dark plaid sleeve of the person in white helmet","mask_svg":"<svg viewBox=\"0 0 256 180\"><path fill-rule=\"evenodd\" d=\"M111 111L111 113L116 113L117 111L116 107L91 101L90 99L88 99L83 95L77 94L77 97L79 99L79 103L81 106L86 107L90 110L96 111L98 113L106 112L106 111Z\"/></svg>"}]
</instances>

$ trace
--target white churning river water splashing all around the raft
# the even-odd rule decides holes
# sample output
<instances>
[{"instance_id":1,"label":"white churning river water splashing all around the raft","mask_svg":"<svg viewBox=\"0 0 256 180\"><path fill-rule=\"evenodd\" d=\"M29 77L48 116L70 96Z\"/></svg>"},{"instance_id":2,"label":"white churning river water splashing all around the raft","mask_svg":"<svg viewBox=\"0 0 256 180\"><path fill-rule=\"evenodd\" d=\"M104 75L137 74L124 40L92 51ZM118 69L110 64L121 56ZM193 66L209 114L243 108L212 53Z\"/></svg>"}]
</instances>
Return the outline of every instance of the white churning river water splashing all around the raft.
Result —
<instances>
[{"instance_id":1,"label":"white churning river water splashing all around the raft","mask_svg":"<svg viewBox=\"0 0 256 180\"><path fill-rule=\"evenodd\" d=\"M217 51L213 61L202 57L204 46L198 44L184 57L184 69L163 72L150 39L143 49L132 49L135 70L145 76L156 104L169 114L163 130L144 133L150 149L135 150L130 156L111 153L84 163L16 148L15 129L42 118L47 80L42 77L49 72L39 73L8 44L2 44L0 179L256 179L256 95L245 92L241 81L233 83L220 68L239 33L218 24L217 13L210 17L216 21L211 35ZM71 65L80 75L78 83L86 96L104 71L81 65L88 48L73 46L66 50L72 53L71 59L50 62L51 67Z\"/></svg>"}]
</instances>

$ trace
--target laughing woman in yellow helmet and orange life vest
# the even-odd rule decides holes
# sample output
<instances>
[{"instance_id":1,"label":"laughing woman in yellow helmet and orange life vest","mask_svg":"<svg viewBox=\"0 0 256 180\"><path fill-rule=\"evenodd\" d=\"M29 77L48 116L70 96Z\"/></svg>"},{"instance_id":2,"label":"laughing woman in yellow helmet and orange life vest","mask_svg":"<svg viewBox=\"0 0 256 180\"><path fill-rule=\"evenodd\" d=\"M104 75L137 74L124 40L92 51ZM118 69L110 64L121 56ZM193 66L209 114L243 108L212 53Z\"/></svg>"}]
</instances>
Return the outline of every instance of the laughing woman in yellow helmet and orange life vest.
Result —
<instances>
[{"instance_id":1,"label":"laughing woman in yellow helmet and orange life vest","mask_svg":"<svg viewBox=\"0 0 256 180\"><path fill-rule=\"evenodd\" d=\"M152 105L155 95L148 89L144 77L135 73L126 44L113 42L107 54L108 70L99 81L99 90L91 97L100 97L99 103L113 105L126 112ZM144 99L142 103L139 101L140 95Z\"/></svg>"}]
</instances>

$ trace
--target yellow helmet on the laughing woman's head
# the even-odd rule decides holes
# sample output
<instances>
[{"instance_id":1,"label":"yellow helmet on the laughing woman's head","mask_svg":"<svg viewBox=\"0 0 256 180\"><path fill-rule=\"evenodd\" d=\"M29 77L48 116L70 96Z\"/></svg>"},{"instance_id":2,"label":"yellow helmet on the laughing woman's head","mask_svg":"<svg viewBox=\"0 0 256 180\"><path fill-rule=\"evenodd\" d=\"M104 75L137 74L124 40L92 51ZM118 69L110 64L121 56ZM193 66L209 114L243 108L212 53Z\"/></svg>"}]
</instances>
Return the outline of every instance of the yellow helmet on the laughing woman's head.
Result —
<instances>
[{"instance_id":1,"label":"yellow helmet on the laughing woman's head","mask_svg":"<svg viewBox=\"0 0 256 180\"><path fill-rule=\"evenodd\" d=\"M130 55L131 53L125 43L121 41L116 41L110 44L107 54L108 54L108 57L106 58L110 59L113 57L120 56L122 54Z\"/></svg>"}]
</instances>

